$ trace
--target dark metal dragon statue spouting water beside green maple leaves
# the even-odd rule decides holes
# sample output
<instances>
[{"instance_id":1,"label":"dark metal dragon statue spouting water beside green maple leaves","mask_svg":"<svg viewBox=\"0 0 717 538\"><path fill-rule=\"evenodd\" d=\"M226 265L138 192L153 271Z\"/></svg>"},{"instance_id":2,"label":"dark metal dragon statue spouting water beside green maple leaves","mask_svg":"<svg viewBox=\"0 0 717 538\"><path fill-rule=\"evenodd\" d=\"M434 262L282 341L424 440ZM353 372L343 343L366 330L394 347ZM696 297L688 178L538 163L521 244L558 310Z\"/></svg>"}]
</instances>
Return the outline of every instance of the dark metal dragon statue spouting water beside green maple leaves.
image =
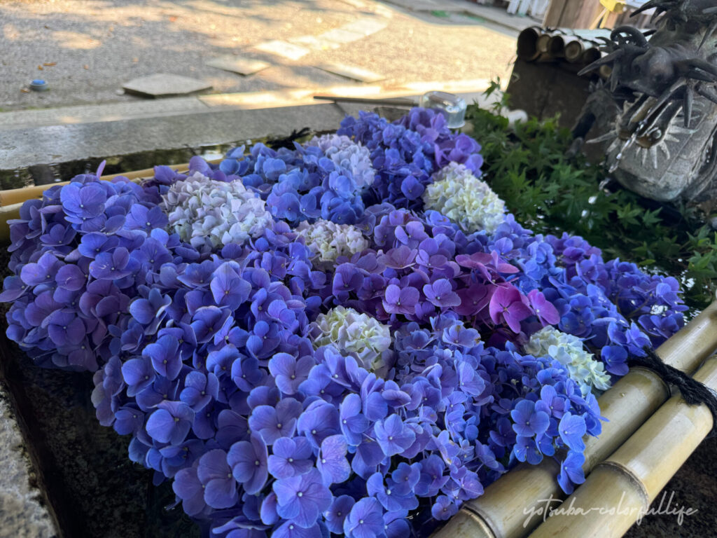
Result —
<instances>
[{"instance_id":1,"label":"dark metal dragon statue spouting water beside green maple leaves","mask_svg":"<svg viewBox=\"0 0 717 538\"><path fill-rule=\"evenodd\" d=\"M605 144L614 179L638 194L715 199L717 0L650 0L635 14L649 9L655 29L614 29L606 54L582 71L611 68L593 99L603 95L598 108L617 113L614 128L590 142Z\"/></svg>"}]
</instances>

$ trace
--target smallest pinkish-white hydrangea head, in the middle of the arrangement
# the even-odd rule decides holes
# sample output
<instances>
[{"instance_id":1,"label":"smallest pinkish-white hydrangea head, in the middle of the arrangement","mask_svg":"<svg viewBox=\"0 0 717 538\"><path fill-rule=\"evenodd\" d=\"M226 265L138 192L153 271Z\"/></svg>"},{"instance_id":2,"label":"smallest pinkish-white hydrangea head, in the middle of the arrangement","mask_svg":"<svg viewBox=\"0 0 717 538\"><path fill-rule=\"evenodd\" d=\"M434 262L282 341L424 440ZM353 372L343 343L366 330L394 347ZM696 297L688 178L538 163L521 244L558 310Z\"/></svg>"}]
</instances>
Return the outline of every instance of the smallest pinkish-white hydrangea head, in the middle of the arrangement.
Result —
<instances>
[{"instance_id":1,"label":"smallest pinkish-white hydrangea head, in the middle of the arrangement","mask_svg":"<svg viewBox=\"0 0 717 538\"><path fill-rule=\"evenodd\" d=\"M320 262L334 262L339 256L351 256L369 247L359 228L330 220L317 220L313 224L303 221L296 227L296 232Z\"/></svg>"}]
</instances>

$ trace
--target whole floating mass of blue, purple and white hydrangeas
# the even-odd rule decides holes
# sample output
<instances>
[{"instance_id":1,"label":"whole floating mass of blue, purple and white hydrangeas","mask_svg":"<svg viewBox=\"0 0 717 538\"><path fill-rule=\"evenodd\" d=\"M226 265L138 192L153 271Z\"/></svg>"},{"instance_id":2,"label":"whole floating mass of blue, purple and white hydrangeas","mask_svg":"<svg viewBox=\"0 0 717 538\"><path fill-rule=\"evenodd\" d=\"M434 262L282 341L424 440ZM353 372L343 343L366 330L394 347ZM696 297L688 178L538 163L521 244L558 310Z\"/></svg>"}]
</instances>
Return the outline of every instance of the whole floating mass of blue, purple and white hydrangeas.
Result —
<instances>
[{"instance_id":1,"label":"whole floating mass of blue, purple and white hydrangeas","mask_svg":"<svg viewBox=\"0 0 717 538\"><path fill-rule=\"evenodd\" d=\"M11 222L7 336L94 372L100 423L212 537L408 537L543 458L570 492L596 395L685 306L521 227L481 165L414 109L143 184L76 176Z\"/></svg>"}]
</instances>

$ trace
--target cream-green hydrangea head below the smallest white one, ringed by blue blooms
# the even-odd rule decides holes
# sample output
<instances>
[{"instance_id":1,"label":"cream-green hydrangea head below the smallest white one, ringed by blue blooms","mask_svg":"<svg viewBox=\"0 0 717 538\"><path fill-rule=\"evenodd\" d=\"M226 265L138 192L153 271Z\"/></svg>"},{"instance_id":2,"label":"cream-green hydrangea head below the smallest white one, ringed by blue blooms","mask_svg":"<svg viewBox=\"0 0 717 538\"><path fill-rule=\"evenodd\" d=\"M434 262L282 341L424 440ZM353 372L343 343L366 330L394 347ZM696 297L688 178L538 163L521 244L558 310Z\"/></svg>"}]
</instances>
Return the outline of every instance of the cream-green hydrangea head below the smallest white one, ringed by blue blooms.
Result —
<instances>
[{"instance_id":1,"label":"cream-green hydrangea head below the smallest white one, ringed by blue blooms","mask_svg":"<svg viewBox=\"0 0 717 538\"><path fill-rule=\"evenodd\" d=\"M365 313L337 306L319 314L311 326L315 348L333 345L338 351L350 353L359 365L371 371L386 369L391 355L391 331ZM363 363L363 364L361 364Z\"/></svg>"}]
</instances>

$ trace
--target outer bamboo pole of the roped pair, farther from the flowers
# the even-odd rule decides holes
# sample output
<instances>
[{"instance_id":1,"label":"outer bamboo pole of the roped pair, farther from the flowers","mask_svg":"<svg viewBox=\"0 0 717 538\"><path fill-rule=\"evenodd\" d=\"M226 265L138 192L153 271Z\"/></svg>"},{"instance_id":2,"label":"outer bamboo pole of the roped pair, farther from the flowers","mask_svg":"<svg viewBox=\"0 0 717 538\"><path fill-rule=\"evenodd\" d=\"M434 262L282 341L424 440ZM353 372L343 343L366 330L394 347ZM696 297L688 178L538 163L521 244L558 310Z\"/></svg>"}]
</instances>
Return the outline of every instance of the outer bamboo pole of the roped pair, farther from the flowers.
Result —
<instances>
[{"instance_id":1,"label":"outer bamboo pole of the roped pair, farther from the flowers","mask_svg":"<svg viewBox=\"0 0 717 538\"><path fill-rule=\"evenodd\" d=\"M695 379L716 389L717 358L709 359ZM680 395L673 396L612 456L599 463L559 507L561 513L550 516L531 538L621 537L647 514L652 501L712 427L713 417L706 405L687 405ZM575 514L579 510L584 515Z\"/></svg>"}]
</instances>

